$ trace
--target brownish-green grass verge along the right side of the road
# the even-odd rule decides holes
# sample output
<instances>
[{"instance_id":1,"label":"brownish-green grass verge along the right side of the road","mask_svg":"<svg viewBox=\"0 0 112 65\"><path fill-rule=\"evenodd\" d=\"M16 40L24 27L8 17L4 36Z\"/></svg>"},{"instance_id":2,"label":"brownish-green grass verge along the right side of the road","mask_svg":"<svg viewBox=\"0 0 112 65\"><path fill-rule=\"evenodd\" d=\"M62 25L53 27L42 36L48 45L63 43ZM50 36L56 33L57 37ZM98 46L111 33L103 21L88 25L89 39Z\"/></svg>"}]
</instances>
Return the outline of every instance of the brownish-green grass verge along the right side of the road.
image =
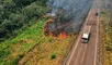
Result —
<instances>
[{"instance_id":1,"label":"brownish-green grass verge along the right side of the road","mask_svg":"<svg viewBox=\"0 0 112 65\"><path fill-rule=\"evenodd\" d=\"M110 12L104 11L101 14L101 18L102 65L112 65L112 27L109 25L111 21Z\"/></svg>"}]
</instances>

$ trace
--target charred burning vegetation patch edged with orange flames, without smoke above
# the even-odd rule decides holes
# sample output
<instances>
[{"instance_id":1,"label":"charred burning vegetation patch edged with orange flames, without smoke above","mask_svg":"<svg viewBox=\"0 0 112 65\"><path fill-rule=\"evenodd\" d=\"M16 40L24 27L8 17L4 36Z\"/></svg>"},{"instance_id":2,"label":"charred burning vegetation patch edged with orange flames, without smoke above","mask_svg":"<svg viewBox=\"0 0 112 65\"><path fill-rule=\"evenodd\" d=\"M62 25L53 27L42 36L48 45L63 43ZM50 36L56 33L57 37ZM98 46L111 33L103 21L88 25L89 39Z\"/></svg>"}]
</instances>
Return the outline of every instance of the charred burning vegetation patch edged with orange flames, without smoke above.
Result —
<instances>
[{"instance_id":1,"label":"charred burning vegetation patch edged with orange flames, without smoke above","mask_svg":"<svg viewBox=\"0 0 112 65\"><path fill-rule=\"evenodd\" d=\"M66 32L66 26L69 26L70 22L69 18L66 18L65 17L65 14L64 14L64 10L59 10L58 13L56 13L56 16L55 16L55 13L51 14L46 14L47 17L49 17L47 20L47 22L45 23L44 25L44 35L45 36L49 36L49 35L53 35L55 37L58 37L58 38L66 38L67 36L67 32Z\"/></svg>"}]
</instances>

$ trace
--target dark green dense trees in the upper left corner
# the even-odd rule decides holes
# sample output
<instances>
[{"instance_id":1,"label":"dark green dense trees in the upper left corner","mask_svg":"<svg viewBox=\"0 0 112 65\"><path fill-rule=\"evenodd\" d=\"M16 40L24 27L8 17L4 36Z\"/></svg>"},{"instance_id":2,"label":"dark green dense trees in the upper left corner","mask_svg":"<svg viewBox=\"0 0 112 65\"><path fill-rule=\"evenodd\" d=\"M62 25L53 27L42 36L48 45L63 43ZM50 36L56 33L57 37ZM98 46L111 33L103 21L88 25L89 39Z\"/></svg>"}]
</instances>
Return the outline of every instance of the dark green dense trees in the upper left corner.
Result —
<instances>
[{"instance_id":1,"label":"dark green dense trees in the upper left corner","mask_svg":"<svg viewBox=\"0 0 112 65\"><path fill-rule=\"evenodd\" d=\"M29 26L31 20L43 17L45 2L46 0L2 0L2 3L0 2L0 39L15 37L16 30Z\"/></svg>"}]
</instances>

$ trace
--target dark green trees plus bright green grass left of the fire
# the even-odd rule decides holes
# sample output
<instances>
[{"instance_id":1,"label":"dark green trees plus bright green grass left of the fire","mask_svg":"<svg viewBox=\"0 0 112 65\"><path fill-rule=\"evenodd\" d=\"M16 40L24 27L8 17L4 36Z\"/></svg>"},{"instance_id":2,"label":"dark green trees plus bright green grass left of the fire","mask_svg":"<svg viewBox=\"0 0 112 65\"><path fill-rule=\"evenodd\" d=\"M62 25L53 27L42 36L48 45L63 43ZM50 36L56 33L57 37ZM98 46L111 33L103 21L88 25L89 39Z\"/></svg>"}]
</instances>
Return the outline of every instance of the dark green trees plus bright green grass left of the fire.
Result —
<instances>
[{"instance_id":1,"label":"dark green trees plus bright green grass left of the fire","mask_svg":"<svg viewBox=\"0 0 112 65\"><path fill-rule=\"evenodd\" d=\"M34 44L40 44L45 3L46 0L0 1L0 65L16 65Z\"/></svg>"}]
</instances>

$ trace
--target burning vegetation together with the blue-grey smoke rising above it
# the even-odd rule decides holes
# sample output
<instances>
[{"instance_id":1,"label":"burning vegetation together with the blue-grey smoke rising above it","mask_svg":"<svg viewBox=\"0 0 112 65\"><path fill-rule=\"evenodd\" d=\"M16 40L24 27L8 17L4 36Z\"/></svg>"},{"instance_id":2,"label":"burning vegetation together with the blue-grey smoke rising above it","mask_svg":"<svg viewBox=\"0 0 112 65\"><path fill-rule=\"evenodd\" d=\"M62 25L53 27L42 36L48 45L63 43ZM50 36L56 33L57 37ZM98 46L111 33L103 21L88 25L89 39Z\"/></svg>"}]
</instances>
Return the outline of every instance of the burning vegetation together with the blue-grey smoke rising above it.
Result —
<instances>
[{"instance_id":1,"label":"burning vegetation together with the blue-grey smoke rising above it","mask_svg":"<svg viewBox=\"0 0 112 65\"><path fill-rule=\"evenodd\" d=\"M58 38L66 38L79 31L85 16L91 6L92 1L80 0L76 4L74 0L49 0L47 2L47 13L44 17L48 18L44 25L44 35ZM65 5L66 3L66 5ZM77 6L78 5L78 6ZM85 5L85 8L83 8Z\"/></svg>"}]
</instances>

